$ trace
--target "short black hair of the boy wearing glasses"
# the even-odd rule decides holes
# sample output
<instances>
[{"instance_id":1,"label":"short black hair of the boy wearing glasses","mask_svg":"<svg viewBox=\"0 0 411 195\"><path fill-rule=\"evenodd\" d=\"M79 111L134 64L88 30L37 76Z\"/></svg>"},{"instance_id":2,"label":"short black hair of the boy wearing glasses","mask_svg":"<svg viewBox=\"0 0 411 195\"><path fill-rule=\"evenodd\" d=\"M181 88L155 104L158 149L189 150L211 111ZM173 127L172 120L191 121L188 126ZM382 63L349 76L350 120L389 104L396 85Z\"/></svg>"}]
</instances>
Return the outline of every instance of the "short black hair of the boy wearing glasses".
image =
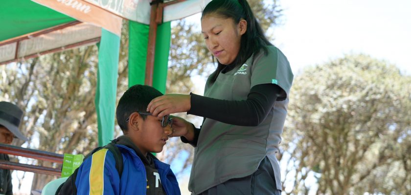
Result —
<instances>
[{"instance_id":1,"label":"short black hair of the boy wearing glasses","mask_svg":"<svg viewBox=\"0 0 411 195\"><path fill-rule=\"evenodd\" d=\"M146 109L150 101L163 94L154 87L147 85L134 85L130 87L118 101L116 117L117 124L124 132L128 131L126 119L134 112L147 113ZM145 119L146 115L140 115Z\"/></svg>"}]
</instances>

